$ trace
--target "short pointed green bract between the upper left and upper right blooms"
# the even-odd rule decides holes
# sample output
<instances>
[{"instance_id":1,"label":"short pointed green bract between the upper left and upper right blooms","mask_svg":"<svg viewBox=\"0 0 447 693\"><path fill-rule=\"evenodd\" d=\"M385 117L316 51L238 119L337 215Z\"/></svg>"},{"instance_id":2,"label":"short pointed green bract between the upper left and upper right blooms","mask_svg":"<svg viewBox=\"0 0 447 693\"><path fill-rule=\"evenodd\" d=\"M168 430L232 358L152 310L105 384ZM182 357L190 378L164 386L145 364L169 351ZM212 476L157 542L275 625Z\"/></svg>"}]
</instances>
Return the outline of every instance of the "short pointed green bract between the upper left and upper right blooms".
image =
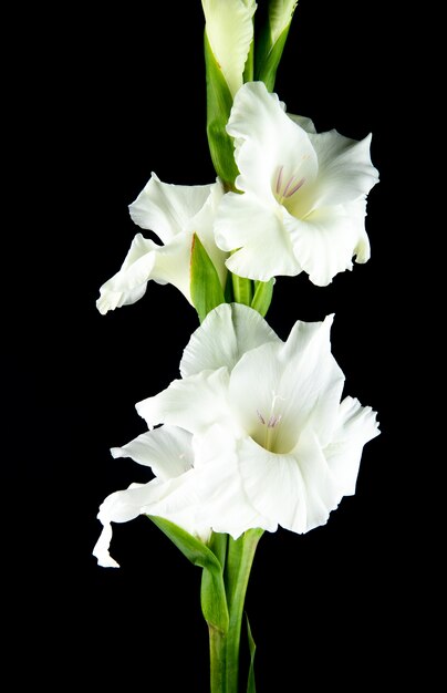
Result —
<instances>
[{"instance_id":1,"label":"short pointed green bract between the upper left and upper right blooms","mask_svg":"<svg viewBox=\"0 0 447 693\"><path fill-rule=\"evenodd\" d=\"M193 235L190 258L190 292L193 303L202 322L210 310L225 303L219 276L197 234Z\"/></svg>"}]
</instances>

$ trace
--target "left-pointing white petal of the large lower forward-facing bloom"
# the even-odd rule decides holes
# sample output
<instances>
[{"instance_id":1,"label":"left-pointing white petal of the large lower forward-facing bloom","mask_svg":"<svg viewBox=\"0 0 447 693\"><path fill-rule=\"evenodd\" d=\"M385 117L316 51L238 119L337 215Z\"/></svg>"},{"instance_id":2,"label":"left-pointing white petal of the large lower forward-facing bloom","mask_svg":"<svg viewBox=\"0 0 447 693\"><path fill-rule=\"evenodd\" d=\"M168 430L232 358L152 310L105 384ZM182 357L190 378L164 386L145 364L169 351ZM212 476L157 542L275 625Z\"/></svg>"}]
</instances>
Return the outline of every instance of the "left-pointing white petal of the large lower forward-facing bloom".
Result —
<instances>
[{"instance_id":1,"label":"left-pointing white petal of the large lower forward-facing bloom","mask_svg":"<svg viewBox=\"0 0 447 693\"><path fill-rule=\"evenodd\" d=\"M159 394L138 402L136 410L149 428L166 423L194 434L204 433L216 422L233 428L227 401L228 370L201 371L175 380Z\"/></svg>"}]
</instances>

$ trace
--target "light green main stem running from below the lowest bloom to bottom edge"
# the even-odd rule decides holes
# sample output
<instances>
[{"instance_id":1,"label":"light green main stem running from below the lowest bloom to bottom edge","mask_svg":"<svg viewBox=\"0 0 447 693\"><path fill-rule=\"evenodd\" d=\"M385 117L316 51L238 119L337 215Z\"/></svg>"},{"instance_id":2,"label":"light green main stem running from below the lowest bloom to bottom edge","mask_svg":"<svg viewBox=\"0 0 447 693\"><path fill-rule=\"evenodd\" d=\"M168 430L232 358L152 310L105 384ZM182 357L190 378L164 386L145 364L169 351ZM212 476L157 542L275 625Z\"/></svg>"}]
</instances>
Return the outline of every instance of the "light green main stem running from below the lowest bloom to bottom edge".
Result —
<instances>
[{"instance_id":1,"label":"light green main stem running from below the lowest bloom to bottom edge","mask_svg":"<svg viewBox=\"0 0 447 693\"><path fill-rule=\"evenodd\" d=\"M227 635L226 693L238 693L239 645L243 604L254 551L262 534L262 529L249 529L236 541L231 537L228 539L225 585L230 623Z\"/></svg>"}]
</instances>

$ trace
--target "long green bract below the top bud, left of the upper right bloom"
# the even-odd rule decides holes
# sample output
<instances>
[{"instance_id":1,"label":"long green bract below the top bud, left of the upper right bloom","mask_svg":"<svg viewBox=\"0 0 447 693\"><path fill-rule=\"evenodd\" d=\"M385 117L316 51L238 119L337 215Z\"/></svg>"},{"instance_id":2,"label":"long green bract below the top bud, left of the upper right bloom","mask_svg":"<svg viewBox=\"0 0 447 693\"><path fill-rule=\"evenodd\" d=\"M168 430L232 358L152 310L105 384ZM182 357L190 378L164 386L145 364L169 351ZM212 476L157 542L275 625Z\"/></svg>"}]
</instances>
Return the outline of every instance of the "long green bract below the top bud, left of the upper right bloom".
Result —
<instances>
[{"instance_id":1,"label":"long green bract below the top bud, left of the upper right bloom","mask_svg":"<svg viewBox=\"0 0 447 693\"><path fill-rule=\"evenodd\" d=\"M205 32L205 66L207 81L207 135L216 173L227 189L235 189L238 167L232 137L226 131L232 96Z\"/></svg>"}]
</instances>

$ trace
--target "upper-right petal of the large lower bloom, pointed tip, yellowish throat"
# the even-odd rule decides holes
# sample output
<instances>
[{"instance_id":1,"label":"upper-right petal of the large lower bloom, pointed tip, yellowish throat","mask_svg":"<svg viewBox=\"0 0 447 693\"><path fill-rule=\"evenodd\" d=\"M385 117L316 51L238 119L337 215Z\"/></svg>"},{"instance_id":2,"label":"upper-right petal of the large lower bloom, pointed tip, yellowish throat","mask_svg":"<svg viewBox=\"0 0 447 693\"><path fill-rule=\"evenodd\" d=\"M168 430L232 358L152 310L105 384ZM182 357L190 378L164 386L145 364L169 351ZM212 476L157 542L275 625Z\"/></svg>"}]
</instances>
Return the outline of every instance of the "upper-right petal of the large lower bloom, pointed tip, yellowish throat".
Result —
<instances>
[{"instance_id":1,"label":"upper-right petal of the large lower bloom, pointed tip, yellowish throat","mask_svg":"<svg viewBox=\"0 0 447 693\"><path fill-rule=\"evenodd\" d=\"M323 323L297 322L284 344L253 349L235 366L230 404L260 445L292 452L309 421L322 439L330 438L344 381L331 354L331 317Z\"/></svg>"}]
</instances>

